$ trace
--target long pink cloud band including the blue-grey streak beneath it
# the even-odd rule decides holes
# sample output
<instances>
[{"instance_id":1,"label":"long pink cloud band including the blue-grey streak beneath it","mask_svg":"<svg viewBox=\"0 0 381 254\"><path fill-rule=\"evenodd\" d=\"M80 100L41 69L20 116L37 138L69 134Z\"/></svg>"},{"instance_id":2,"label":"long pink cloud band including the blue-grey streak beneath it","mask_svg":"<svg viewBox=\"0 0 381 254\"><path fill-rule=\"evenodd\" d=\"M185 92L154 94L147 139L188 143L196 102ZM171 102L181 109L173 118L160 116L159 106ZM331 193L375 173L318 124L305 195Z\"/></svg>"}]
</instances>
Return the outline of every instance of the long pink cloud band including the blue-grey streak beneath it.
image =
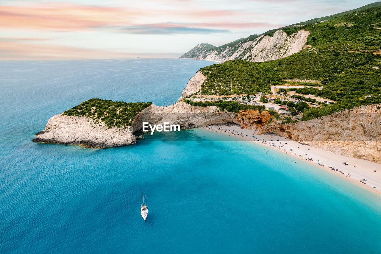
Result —
<instances>
[{"instance_id":1,"label":"long pink cloud band including the blue-grey streak beneath it","mask_svg":"<svg viewBox=\"0 0 381 254\"><path fill-rule=\"evenodd\" d=\"M0 5L0 27L37 29L46 31L79 31L120 27L132 33L208 33L228 28L266 26L267 23L240 23L242 16L252 17L260 13L230 10L170 9L155 10L138 8L115 8L106 6L78 5L73 3L47 3L29 6ZM232 22L226 21L231 19ZM165 28L150 25L149 21L163 23L189 22L181 27ZM211 21L211 22L210 22ZM163 24L162 23L162 24ZM152 29L150 29L152 27ZM201 28L202 27L202 28ZM218 27L218 29L215 29ZM226 32L226 31L224 31Z\"/></svg>"}]
</instances>

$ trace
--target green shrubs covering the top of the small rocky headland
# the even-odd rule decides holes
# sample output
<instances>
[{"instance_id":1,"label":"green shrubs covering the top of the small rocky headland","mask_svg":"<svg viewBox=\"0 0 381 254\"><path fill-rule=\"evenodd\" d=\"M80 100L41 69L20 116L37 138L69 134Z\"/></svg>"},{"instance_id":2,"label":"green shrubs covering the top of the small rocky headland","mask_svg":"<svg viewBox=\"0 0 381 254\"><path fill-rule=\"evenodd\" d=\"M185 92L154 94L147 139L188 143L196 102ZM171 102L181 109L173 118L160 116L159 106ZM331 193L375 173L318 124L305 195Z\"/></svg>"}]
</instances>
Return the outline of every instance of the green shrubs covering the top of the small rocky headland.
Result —
<instances>
[{"instance_id":1,"label":"green shrubs covering the top of the small rocky headland","mask_svg":"<svg viewBox=\"0 0 381 254\"><path fill-rule=\"evenodd\" d=\"M112 127L127 127L132 124L134 117L152 102L126 103L124 101L110 101L99 98L82 102L64 112L65 116L87 116L104 122L110 129Z\"/></svg>"}]
</instances>

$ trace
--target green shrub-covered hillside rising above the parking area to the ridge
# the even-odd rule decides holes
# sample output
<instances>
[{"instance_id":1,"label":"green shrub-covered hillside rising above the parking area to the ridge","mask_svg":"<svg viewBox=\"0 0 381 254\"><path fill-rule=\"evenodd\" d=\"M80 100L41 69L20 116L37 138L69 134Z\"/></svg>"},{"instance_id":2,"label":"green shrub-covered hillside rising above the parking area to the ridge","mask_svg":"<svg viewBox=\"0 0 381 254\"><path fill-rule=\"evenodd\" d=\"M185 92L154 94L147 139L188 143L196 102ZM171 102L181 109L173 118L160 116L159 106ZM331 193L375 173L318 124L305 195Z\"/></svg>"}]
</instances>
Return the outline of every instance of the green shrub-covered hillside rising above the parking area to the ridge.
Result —
<instances>
[{"instance_id":1,"label":"green shrub-covered hillside rising above the parking area to the ridge","mask_svg":"<svg viewBox=\"0 0 381 254\"><path fill-rule=\"evenodd\" d=\"M287 58L262 63L231 60L202 68L207 79L198 93L269 93L271 85L285 84L285 79L319 80L322 90L299 88L297 92L338 103L307 109L302 120L381 103L380 24L381 7L375 7L311 25L308 37L311 47Z\"/></svg>"}]
</instances>

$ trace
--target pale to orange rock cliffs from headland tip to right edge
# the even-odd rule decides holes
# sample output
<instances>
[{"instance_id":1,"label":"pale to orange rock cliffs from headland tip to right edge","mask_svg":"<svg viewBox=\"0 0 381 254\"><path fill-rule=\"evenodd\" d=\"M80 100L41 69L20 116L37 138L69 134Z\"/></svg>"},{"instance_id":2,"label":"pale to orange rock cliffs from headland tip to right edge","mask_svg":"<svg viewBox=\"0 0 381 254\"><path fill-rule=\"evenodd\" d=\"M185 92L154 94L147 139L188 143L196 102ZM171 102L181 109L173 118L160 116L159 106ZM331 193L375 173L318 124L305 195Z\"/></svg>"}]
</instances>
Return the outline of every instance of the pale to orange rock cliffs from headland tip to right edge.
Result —
<instances>
[{"instance_id":1,"label":"pale to orange rock cliffs from headland tip to right edge","mask_svg":"<svg viewBox=\"0 0 381 254\"><path fill-rule=\"evenodd\" d=\"M134 133L142 129L142 122L169 122L183 129L232 122L244 129L255 129L258 134L274 133L336 154L381 163L381 105L361 106L309 121L268 124L272 115L267 111L243 110L235 114L215 106L183 102L182 98L197 92L205 79L202 72L197 72L176 103L168 107L151 104L134 117L131 126L108 128L91 117L61 113L51 117L33 141L106 148L136 143Z\"/></svg>"}]
</instances>

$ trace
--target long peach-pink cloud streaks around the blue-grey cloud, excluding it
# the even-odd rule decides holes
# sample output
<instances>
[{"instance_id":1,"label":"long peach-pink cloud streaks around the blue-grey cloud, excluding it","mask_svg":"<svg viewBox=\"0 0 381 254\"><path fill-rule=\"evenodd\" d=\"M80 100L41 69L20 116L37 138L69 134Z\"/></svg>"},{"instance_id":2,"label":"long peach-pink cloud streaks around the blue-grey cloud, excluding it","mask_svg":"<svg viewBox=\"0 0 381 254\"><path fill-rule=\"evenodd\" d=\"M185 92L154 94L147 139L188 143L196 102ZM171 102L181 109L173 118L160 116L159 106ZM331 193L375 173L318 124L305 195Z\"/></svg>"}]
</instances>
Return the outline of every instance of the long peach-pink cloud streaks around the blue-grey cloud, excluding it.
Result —
<instances>
[{"instance_id":1,"label":"long peach-pink cloud streaks around the blue-grey cloud, excluding it","mask_svg":"<svg viewBox=\"0 0 381 254\"><path fill-rule=\"evenodd\" d=\"M240 28L257 27L266 23L240 23L240 22L205 22L210 18L240 17L253 15L253 13L229 10L139 10L133 8L114 8L104 6L77 5L71 3L50 3L29 6L1 6L0 27L40 29L53 31L72 31L94 28L117 28L133 25L147 25L138 23L139 18L160 17L168 21L178 21L182 17L191 20L204 20L201 23L192 23L192 26ZM237 20L237 19L235 19ZM171 26L175 23L161 23L162 26ZM175 26L175 25L173 25ZM181 26L187 26L182 24Z\"/></svg>"}]
</instances>

